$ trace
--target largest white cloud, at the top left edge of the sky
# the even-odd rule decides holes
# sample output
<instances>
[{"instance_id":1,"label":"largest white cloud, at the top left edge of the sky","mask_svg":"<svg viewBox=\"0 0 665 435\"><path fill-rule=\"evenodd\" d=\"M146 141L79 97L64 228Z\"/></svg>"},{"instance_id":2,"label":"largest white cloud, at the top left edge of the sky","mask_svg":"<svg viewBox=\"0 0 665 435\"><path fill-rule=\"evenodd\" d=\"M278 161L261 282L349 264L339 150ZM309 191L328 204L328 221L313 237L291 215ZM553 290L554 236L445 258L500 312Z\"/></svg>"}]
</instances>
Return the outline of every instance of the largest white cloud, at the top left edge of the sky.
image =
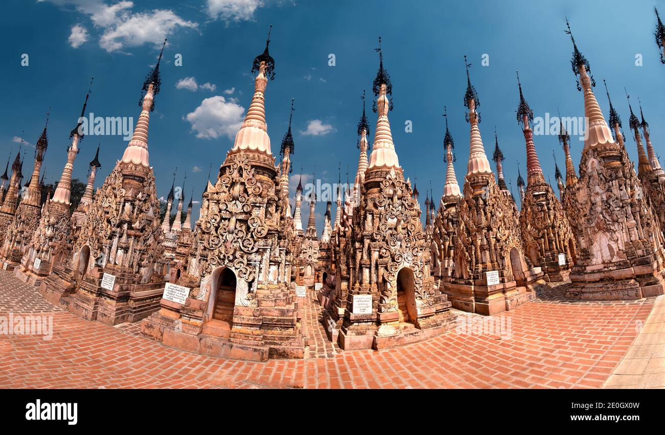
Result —
<instances>
[{"instance_id":1,"label":"largest white cloud, at the top left edge of the sky","mask_svg":"<svg viewBox=\"0 0 665 435\"><path fill-rule=\"evenodd\" d=\"M102 0L50 1L61 7L73 5L76 11L88 15L94 27L102 33L99 39L100 47L108 52L143 44L161 47L164 39L180 27L198 29L197 23L178 17L170 9L134 13L132 1L122 0L113 5L107 5ZM74 46L71 35L69 42Z\"/></svg>"}]
</instances>

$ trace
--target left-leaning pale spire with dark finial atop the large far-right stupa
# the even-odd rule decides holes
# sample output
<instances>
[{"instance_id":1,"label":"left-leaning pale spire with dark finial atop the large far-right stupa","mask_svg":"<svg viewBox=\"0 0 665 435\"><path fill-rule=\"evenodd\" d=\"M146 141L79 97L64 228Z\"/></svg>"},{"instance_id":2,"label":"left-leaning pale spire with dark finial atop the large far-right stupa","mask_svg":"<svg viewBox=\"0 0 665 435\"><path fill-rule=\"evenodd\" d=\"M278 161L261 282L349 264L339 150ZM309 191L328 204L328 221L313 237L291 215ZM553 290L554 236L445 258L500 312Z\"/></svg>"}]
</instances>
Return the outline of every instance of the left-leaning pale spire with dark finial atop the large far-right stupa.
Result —
<instances>
[{"instance_id":1,"label":"left-leaning pale spire with dark finial atop the large far-right stupa","mask_svg":"<svg viewBox=\"0 0 665 435\"><path fill-rule=\"evenodd\" d=\"M586 153L589 149L594 149L606 143L614 143L614 139L602 115L602 110L600 110L596 96L593 94L592 88L596 86L596 82L593 76L590 75L591 66L589 66L589 61L577 49L577 44L573 38L568 20L566 20L566 25L568 27L566 33L571 37L571 41L573 41L571 65L573 66L576 80L577 75L580 77L577 82L577 90L583 90L584 92L585 116L587 117L587 129L585 132L587 137L582 153Z\"/></svg>"}]
</instances>

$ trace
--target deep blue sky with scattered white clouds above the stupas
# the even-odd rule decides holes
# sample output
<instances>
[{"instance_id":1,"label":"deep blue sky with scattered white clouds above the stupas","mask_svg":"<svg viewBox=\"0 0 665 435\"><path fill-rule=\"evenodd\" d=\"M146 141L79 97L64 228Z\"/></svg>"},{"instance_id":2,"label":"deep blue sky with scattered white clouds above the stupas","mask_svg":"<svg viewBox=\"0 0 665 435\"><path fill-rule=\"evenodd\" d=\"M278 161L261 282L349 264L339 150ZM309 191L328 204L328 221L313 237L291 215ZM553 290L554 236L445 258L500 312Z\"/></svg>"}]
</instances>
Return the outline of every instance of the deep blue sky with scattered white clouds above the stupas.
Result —
<instances>
[{"instance_id":1,"label":"deep blue sky with scattered white clouds above the stupas","mask_svg":"<svg viewBox=\"0 0 665 435\"><path fill-rule=\"evenodd\" d=\"M653 7L661 1L287 1L287 0L45 0L3 2L0 14L0 161L18 143L35 143L49 106L47 180L57 181L66 161L68 132L76 125L90 76L94 85L88 111L95 116L138 118L141 86L168 37L162 64L162 91L150 121L150 163L158 195L166 196L172 173L176 185L188 178L184 192L194 186L198 201L210 163L213 175L231 147L237 123L249 106L253 58L263 51L273 25L270 52L275 80L266 94L267 121L273 153L279 153L287 129L291 98L295 98L293 175L304 171L323 182L342 181L348 166L352 179L358 161L356 123L362 90L371 94L378 67L374 52L382 37L384 65L393 85L390 121L396 151L405 175L424 193L430 186L438 202L445 177L442 118L448 106L450 130L456 143L456 172L464 183L469 151L469 125L464 120L466 89L464 54L481 106L480 124L488 155L496 126L506 157L506 179L517 195L517 161L525 174L525 145L515 119L519 103L515 70L535 116L583 116L581 92L571 70L572 44L564 33L568 17L581 52L597 81L595 93L607 118L608 102L602 79L626 133L626 146L636 159L628 130L628 105L642 100L656 152L662 151L663 79L654 43ZM29 66L21 65L22 54ZM335 66L329 66L329 54ZM174 56L182 54L182 66ZM489 65L481 64L483 54ZM636 66L641 54L642 66ZM194 78L194 80L192 80ZM186 80L188 79L188 80ZM196 82L196 86L194 85ZM179 86L176 86L180 83ZM368 104L373 138L376 115ZM412 132L405 122L412 122ZM88 135L80 145L74 177L85 179L87 164L102 142L96 186L114 167L126 146L120 136ZM572 141L579 163L583 142ZM563 151L555 135L538 135L535 144L543 171L552 180L557 153L563 170ZM31 153L30 153L31 155ZM26 176L31 172L27 163ZM316 169L315 169L316 168ZM296 177L297 178L297 177ZM297 180L293 185L297 184ZM424 210L424 195L421 195ZM195 207L194 218L198 217ZM325 204L317 205L319 232ZM334 213L334 206L333 206ZM303 211L307 222L309 207Z\"/></svg>"}]
</instances>

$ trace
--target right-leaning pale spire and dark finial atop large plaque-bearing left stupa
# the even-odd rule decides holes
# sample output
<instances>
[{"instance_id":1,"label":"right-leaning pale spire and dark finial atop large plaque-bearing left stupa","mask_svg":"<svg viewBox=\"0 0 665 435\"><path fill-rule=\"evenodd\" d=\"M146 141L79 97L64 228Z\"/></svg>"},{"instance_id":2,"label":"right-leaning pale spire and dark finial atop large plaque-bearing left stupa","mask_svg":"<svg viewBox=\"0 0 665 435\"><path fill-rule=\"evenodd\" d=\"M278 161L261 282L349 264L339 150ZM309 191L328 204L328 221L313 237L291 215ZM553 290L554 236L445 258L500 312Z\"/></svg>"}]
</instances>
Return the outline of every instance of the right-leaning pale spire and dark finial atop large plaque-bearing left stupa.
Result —
<instances>
[{"instance_id":1,"label":"right-leaning pale spire and dark finial atop large plaque-bearing left stupa","mask_svg":"<svg viewBox=\"0 0 665 435\"><path fill-rule=\"evenodd\" d=\"M134 165L142 165L143 167L150 166L148 164L148 124L150 124L150 112L155 108L155 96L160 92L162 84L160 62L164 53L164 46L166 46L166 39L164 39L164 45L162 45L162 51L160 51L157 64L150 71L143 83L141 98L138 102L139 106L141 106L141 114L138 116L138 121L136 121L132 140L129 141L122 155L122 163L132 163Z\"/></svg>"}]
</instances>

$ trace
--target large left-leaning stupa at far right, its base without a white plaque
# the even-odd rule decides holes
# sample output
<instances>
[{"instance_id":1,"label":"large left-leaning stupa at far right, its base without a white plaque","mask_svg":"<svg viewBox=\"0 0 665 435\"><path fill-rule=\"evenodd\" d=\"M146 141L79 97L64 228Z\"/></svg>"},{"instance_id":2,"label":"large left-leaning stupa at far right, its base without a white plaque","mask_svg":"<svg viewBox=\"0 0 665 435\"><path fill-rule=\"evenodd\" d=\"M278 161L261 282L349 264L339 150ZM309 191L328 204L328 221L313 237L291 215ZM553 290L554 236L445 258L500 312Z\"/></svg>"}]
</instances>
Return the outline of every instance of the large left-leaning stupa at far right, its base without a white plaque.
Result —
<instances>
[{"instance_id":1,"label":"large left-leaning stupa at far right, its base without a white plaque","mask_svg":"<svg viewBox=\"0 0 665 435\"><path fill-rule=\"evenodd\" d=\"M579 246L567 296L631 300L664 294L662 234L626 149L614 141L593 94L589 61L573 42L573 72L585 101L587 131L579 180L564 207ZM643 189L642 189L643 190Z\"/></svg>"}]
</instances>

